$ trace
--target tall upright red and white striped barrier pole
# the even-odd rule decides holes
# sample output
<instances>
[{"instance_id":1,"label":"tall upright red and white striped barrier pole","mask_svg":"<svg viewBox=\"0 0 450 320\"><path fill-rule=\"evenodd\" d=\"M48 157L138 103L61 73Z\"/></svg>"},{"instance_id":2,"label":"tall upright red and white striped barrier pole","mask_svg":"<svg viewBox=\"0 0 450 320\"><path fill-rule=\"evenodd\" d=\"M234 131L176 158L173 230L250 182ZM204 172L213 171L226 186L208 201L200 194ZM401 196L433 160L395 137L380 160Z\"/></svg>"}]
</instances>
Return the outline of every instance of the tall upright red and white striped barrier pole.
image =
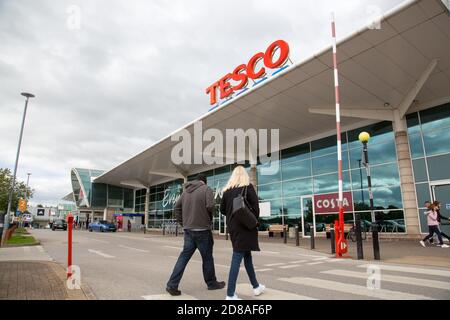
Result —
<instances>
[{"instance_id":1,"label":"tall upright red and white striped barrier pole","mask_svg":"<svg viewBox=\"0 0 450 320\"><path fill-rule=\"evenodd\" d=\"M339 96L339 74L337 68L336 54L336 23L334 13L331 14L331 34L333 38L333 71L334 71L334 95L336 99L336 135L337 135L337 160L338 160L338 184L339 184L339 224L336 233L336 256L341 257L347 252L347 242L344 236L344 207L343 207L343 184L342 184L342 144L341 144L341 113Z\"/></svg>"}]
</instances>

